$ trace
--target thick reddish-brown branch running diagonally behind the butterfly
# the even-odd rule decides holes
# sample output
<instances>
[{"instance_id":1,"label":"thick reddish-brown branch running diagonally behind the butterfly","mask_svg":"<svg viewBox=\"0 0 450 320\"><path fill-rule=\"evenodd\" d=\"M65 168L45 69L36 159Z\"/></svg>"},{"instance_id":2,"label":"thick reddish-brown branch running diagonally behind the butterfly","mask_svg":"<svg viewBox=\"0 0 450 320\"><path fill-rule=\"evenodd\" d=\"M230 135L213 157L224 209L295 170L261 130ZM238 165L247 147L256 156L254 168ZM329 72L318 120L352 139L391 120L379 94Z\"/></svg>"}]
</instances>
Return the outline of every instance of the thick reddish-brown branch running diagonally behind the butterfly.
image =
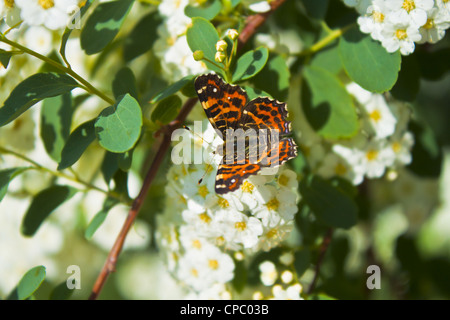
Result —
<instances>
[{"instance_id":1,"label":"thick reddish-brown branch running diagonally behind the butterfly","mask_svg":"<svg viewBox=\"0 0 450 320\"><path fill-rule=\"evenodd\" d=\"M250 37L256 32L256 29L258 29L264 23L264 21L266 21L267 17L273 11L278 9L278 7L280 7L280 5L283 4L285 1L286 0L272 1L271 2L272 9L269 12L256 14L256 15L250 16L248 18L247 22L246 22L246 26L244 27L241 34L239 35L239 47L238 48L241 48L248 41L248 39L250 39ZM106 262L103 265L103 268L94 284L92 293L89 297L90 300L97 299L97 297L99 296L109 275L115 271L117 259L120 255L120 252L122 251L126 236L129 232L131 226L133 225L134 220L136 219L136 217L139 213L139 210L142 207L142 204L147 195L148 189L150 188L150 185L151 185L153 179L155 178L156 173L157 173L162 161L164 160L164 156L165 156L166 152L169 150L172 132L176 128L179 128L181 126L181 124L186 120L186 117L188 116L189 112L192 110L192 108L194 107L196 102L197 102L197 98L191 98L191 99L187 100L186 103L184 104L184 106L181 108L177 118L174 121L172 121L169 125L162 128L161 133L163 133L163 138L162 138L161 144L159 145L156 156L153 159L153 162L150 166L150 169L147 172L147 175L145 176L141 191L139 192L139 195L134 200L133 205L131 206L131 209L128 212L127 219L125 220L125 223L122 226L122 230L120 231L119 235L117 236L116 242L114 243L113 247L111 248L111 250L108 254L108 257L106 259Z\"/></svg>"}]
</instances>

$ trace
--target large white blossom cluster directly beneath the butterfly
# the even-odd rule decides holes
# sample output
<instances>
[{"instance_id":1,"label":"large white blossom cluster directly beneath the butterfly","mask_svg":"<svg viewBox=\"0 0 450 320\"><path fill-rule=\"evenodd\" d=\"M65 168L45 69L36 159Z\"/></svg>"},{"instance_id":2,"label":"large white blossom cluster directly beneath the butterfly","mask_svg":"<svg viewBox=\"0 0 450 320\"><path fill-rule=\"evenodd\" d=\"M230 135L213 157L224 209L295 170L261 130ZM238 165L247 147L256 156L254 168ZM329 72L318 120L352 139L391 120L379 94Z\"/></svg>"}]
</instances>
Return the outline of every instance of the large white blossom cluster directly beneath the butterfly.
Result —
<instances>
[{"instance_id":1,"label":"large white blossom cluster directly beneath the butterfly","mask_svg":"<svg viewBox=\"0 0 450 320\"><path fill-rule=\"evenodd\" d=\"M195 152L210 154L221 143L209 123L203 137L189 134L191 139L180 143L194 140ZM298 210L297 174L286 168L276 175L251 176L240 189L217 195L219 160L173 165L167 175L166 208L158 217L157 239L169 271L201 298L227 298L233 257L277 246L293 229Z\"/></svg>"}]
</instances>

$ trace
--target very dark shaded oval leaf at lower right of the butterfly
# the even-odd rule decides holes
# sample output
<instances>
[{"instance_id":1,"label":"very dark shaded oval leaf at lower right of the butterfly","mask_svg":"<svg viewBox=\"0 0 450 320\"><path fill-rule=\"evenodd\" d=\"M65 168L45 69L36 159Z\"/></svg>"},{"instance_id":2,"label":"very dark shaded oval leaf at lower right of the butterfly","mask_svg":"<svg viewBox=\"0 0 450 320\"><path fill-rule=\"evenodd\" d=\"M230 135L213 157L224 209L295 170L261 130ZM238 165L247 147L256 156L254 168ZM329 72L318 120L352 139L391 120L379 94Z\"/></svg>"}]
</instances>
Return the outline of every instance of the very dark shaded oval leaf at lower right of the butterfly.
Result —
<instances>
[{"instance_id":1,"label":"very dark shaded oval leaf at lower right of the butterfly","mask_svg":"<svg viewBox=\"0 0 450 320\"><path fill-rule=\"evenodd\" d=\"M308 176L300 182L303 200L326 225L348 229L357 222L358 207L353 199L319 176Z\"/></svg>"}]
</instances>

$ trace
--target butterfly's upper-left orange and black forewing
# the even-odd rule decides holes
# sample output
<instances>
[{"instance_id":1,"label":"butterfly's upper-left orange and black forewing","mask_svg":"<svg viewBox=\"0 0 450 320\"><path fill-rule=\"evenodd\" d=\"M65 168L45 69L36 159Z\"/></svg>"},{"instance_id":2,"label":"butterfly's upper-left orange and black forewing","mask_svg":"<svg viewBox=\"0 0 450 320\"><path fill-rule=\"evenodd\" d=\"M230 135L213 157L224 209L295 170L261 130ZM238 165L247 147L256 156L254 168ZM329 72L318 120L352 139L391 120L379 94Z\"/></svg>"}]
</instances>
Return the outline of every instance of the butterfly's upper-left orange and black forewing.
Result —
<instances>
[{"instance_id":1,"label":"butterfly's upper-left orange and black forewing","mask_svg":"<svg viewBox=\"0 0 450 320\"><path fill-rule=\"evenodd\" d=\"M234 129L247 104L247 93L239 86L224 82L209 73L195 79L195 90L212 126L225 137L226 129Z\"/></svg>"}]
</instances>

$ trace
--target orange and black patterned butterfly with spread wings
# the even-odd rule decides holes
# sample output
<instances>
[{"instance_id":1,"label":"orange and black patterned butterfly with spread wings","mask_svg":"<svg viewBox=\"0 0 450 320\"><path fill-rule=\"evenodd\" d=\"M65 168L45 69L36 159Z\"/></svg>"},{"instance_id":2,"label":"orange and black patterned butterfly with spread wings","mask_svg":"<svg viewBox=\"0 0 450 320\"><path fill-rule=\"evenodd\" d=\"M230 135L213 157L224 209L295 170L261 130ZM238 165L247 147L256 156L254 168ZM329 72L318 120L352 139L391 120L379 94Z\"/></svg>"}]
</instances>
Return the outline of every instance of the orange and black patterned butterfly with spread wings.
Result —
<instances>
[{"instance_id":1,"label":"orange and black patterned butterfly with spread wings","mask_svg":"<svg viewBox=\"0 0 450 320\"><path fill-rule=\"evenodd\" d=\"M291 133L291 123L286 120L286 103L268 97L249 101L245 90L226 83L215 73L198 76L194 87L206 116L221 134L224 145L230 129L242 129L244 132L252 129L260 133L258 145L253 143L253 146L246 146L244 156L239 156L234 151L235 148L232 154L227 154L226 150L223 152L216 174L217 194L237 190L245 179L257 174L262 168L281 165L297 156L294 140L283 137ZM274 132L277 136L273 136ZM246 141L248 140L247 138ZM233 143L236 145L236 142ZM259 154L252 158L258 146Z\"/></svg>"}]
</instances>

